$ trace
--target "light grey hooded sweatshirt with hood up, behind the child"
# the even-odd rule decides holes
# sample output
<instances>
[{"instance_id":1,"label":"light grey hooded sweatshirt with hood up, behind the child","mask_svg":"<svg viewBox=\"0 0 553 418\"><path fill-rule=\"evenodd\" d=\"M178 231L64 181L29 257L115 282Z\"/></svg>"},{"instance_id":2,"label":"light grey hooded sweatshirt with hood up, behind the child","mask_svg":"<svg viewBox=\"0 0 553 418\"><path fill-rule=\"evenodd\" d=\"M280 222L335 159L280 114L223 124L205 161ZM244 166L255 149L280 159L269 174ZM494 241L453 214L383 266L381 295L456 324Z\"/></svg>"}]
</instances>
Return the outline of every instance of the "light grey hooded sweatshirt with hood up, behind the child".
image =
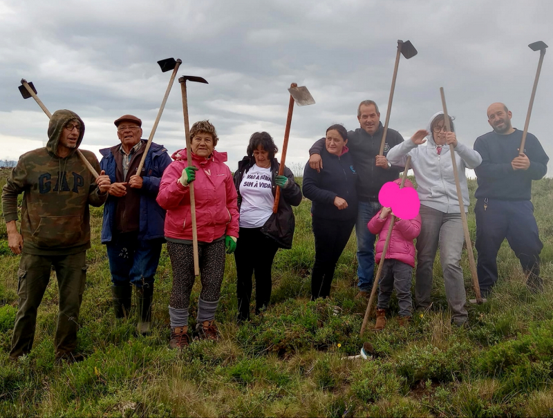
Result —
<instances>
[{"instance_id":1,"label":"light grey hooded sweatshirt with hood up, behind the child","mask_svg":"<svg viewBox=\"0 0 553 418\"><path fill-rule=\"evenodd\" d=\"M441 153L438 154L438 146L434 141L430 127L434 118L443 114L443 112L438 112L430 118L427 127L427 131L429 131L427 146L418 146L413 144L413 141L407 140L388 151L388 161L392 164L404 166L407 162L407 155L411 155L411 168L415 173L420 204L444 213L460 213L461 209L457 198L457 187L453 175L453 162L449 154L449 145L444 144ZM470 202L465 168L474 169L478 167L482 162L482 157L474 149L457 142L455 160L463 204L465 205L465 211L468 211Z\"/></svg>"}]
</instances>

